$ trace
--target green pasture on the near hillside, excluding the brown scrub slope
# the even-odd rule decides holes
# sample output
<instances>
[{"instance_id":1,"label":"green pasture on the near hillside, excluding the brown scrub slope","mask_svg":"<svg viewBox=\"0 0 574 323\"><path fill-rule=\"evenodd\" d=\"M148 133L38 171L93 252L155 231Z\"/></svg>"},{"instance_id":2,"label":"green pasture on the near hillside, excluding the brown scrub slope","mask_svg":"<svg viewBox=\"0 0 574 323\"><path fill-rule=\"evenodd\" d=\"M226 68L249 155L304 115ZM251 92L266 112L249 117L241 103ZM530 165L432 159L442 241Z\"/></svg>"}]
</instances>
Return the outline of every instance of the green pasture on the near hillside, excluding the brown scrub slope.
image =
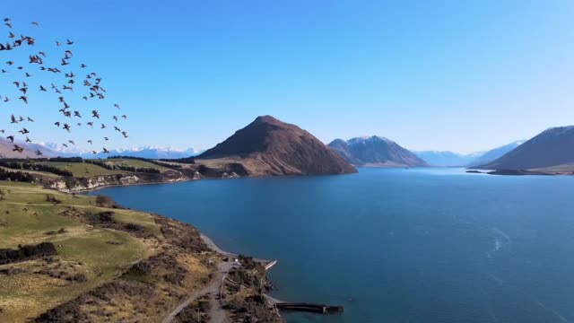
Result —
<instances>
[{"instance_id":1,"label":"green pasture on the near hillside, excluding the brown scrub slope","mask_svg":"<svg viewBox=\"0 0 574 323\"><path fill-rule=\"evenodd\" d=\"M153 249L124 231L93 228L80 219L60 214L65 209L100 212L95 196L72 196L31 184L0 181L4 199L0 201L0 248L17 248L19 244L49 241L57 245L57 259L66 273L82 274L85 282L69 283L48 275L35 274L46 264L40 260L0 266L22 268L20 275L0 275L0 322L23 321L82 292L121 275L126 267L149 257ZM53 196L61 204L46 200ZM137 223L160 236L160 228L150 214L114 209L120 223ZM47 231L65 229L61 234ZM110 243L113 241L114 243ZM51 265L49 265L51 266ZM56 265L55 265L56 266Z\"/></svg>"}]
</instances>

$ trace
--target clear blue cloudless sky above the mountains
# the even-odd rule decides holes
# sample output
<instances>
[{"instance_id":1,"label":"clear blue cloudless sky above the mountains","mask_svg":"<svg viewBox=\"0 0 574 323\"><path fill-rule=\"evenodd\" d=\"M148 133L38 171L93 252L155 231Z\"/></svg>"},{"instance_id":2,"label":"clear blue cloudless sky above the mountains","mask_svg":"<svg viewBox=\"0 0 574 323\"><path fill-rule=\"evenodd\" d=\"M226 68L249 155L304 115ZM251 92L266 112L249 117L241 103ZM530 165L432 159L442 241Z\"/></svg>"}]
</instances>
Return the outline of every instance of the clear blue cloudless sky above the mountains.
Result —
<instances>
[{"instance_id":1,"label":"clear blue cloudless sky above the mountains","mask_svg":"<svg viewBox=\"0 0 574 323\"><path fill-rule=\"evenodd\" d=\"M462 153L574 124L570 0L2 2L104 78L130 117L112 146L209 148L265 114ZM65 140L40 102L41 139Z\"/></svg>"}]
</instances>

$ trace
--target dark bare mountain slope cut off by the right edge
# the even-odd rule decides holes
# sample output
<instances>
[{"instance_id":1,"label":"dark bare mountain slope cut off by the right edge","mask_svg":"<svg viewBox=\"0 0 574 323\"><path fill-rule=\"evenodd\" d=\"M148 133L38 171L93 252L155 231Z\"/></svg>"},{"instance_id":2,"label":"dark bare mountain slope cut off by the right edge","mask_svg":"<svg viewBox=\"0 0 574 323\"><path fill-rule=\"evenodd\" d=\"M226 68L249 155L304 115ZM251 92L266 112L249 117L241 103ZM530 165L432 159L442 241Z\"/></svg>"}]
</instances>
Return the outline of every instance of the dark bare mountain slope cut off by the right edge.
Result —
<instances>
[{"instance_id":1,"label":"dark bare mountain slope cut off by the right edge","mask_svg":"<svg viewBox=\"0 0 574 323\"><path fill-rule=\"evenodd\" d=\"M574 162L574 126L552 127L477 167L483 170L537 170Z\"/></svg>"}]
</instances>

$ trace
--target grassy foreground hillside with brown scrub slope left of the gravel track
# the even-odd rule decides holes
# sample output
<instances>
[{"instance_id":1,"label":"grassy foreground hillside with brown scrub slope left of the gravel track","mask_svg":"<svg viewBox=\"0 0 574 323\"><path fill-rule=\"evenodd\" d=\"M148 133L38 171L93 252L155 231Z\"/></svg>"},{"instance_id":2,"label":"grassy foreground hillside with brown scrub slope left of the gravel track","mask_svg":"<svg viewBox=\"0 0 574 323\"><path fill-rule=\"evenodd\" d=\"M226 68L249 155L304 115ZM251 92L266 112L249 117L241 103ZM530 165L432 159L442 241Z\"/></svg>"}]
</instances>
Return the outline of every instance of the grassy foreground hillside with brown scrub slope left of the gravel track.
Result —
<instances>
[{"instance_id":1,"label":"grassy foreground hillside with brown scrub slope left of the gravel track","mask_svg":"<svg viewBox=\"0 0 574 323\"><path fill-rule=\"evenodd\" d=\"M52 319L72 312L68 319L156 321L213 271L198 232L185 224L31 184L0 181L0 191L0 249L41 242L57 249L55 256L0 265L1 322L34 319L53 308ZM134 270L143 263L145 270ZM180 276L165 278L167 267ZM141 281L148 292L129 294ZM107 297L94 296L101 289ZM67 310L58 310L63 306Z\"/></svg>"}]
</instances>

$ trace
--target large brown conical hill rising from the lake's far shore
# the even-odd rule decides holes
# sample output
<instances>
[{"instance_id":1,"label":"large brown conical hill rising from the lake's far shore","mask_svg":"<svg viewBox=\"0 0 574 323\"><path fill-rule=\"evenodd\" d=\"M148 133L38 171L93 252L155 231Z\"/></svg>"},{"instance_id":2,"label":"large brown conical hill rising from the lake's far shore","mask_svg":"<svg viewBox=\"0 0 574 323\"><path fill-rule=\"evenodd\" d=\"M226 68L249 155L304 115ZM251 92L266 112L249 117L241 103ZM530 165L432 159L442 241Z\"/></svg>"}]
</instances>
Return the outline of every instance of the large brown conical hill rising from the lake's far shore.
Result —
<instances>
[{"instance_id":1,"label":"large brown conical hill rising from the lake's far shore","mask_svg":"<svg viewBox=\"0 0 574 323\"><path fill-rule=\"evenodd\" d=\"M356 170L315 136L271 116L257 117L197 156L240 164L250 175L347 174Z\"/></svg>"}]
</instances>

